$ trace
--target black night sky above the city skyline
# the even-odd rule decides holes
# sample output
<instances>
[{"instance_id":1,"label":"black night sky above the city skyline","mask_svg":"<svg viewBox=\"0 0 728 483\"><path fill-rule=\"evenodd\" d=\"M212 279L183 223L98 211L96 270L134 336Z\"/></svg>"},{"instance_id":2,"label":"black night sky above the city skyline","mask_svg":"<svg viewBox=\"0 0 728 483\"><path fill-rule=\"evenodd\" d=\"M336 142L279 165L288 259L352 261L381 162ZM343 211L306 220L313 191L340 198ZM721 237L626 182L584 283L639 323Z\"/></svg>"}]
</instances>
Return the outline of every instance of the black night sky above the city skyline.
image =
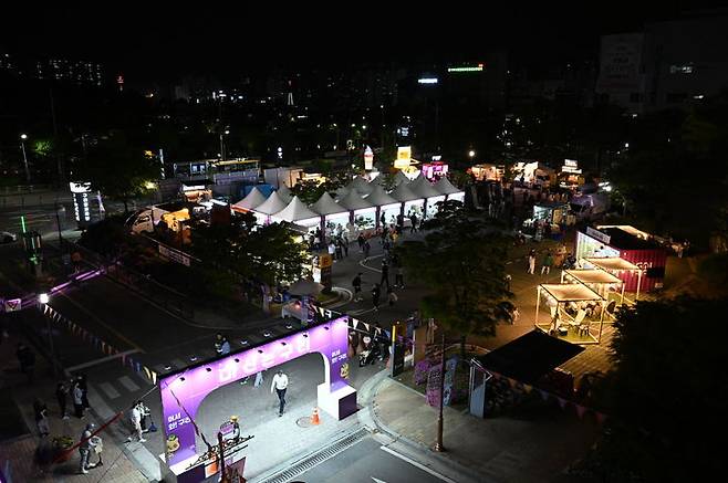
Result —
<instances>
[{"instance_id":1,"label":"black night sky above the city skyline","mask_svg":"<svg viewBox=\"0 0 728 483\"><path fill-rule=\"evenodd\" d=\"M153 3L3 6L0 49L102 61L147 78L283 65L472 60L499 48L524 62L548 63L593 55L600 34L634 31L645 21L720 2L668 0L659 10L654 3L613 1L497 8L493 2L448 2L446 12L424 1L397 7L392 1L357 2L358 8L332 2L315 10L313 2L306 8L288 2L267 8Z\"/></svg>"}]
</instances>

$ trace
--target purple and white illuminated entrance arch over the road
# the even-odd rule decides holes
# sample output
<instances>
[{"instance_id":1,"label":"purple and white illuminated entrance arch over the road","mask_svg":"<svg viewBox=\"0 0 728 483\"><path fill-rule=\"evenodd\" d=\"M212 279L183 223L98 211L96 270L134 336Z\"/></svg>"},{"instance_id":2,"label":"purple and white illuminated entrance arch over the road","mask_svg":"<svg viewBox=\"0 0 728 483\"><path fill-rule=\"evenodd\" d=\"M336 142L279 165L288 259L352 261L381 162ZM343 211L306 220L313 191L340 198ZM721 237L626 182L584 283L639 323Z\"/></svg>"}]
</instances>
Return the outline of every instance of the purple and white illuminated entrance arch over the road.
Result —
<instances>
[{"instance_id":1,"label":"purple and white illuminated entrance arch over the road","mask_svg":"<svg viewBox=\"0 0 728 483\"><path fill-rule=\"evenodd\" d=\"M356 412L356 390L344 377L349 372L347 344L349 317L342 316L160 378L165 453L167 465L178 481L200 482L206 479L205 464L195 465L199 454L193 423L202 400L216 389L247 376L319 353L324 361L324 382L318 387L319 408L336 420Z\"/></svg>"}]
</instances>

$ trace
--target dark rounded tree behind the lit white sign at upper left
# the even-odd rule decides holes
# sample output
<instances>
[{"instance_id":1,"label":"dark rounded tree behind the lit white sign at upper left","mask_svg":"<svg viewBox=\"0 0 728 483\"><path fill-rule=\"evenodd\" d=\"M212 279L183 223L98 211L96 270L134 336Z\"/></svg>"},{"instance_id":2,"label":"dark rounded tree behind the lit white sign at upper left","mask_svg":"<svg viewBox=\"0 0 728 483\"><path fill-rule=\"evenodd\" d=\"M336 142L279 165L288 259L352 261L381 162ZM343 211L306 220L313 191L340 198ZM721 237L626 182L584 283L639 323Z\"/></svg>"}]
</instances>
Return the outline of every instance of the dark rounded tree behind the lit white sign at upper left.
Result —
<instances>
[{"instance_id":1,"label":"dark rounded tree behind the lit white sign at upper left","mask_svg":"<svg viewBox=\"0 0 728 483\"><path fill-rule=\"evenodd\" d=\"M90 149L74 172L74 179L90 181L93 189L122 201L146 195L158 178L159 167L144 149L131 145L121 132L112 132L106 139Z\"/></svg>"}]
</instances>

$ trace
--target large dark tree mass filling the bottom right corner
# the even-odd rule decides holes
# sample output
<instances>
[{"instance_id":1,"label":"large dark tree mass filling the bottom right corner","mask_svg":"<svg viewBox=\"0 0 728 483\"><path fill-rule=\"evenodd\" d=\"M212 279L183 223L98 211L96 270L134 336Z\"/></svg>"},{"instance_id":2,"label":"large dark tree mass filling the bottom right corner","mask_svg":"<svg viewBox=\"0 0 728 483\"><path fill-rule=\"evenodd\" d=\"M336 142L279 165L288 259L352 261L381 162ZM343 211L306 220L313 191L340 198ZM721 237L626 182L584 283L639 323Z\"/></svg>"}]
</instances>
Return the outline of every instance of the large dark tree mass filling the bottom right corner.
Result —
<instances>
[{"instance_id":1,"label":"large dark tree mass filling the bottom right corner","mask_svg":"<svg viewBox=\"0 0 728 483\"><path fill-rule=\"evenodd\" d=\"M728 298L683 297L618 313L599 397L611 416L595 453L603 481L722 479L722 445L706 433L728 407L727 311Z\"/></svg>"}]
</instances>

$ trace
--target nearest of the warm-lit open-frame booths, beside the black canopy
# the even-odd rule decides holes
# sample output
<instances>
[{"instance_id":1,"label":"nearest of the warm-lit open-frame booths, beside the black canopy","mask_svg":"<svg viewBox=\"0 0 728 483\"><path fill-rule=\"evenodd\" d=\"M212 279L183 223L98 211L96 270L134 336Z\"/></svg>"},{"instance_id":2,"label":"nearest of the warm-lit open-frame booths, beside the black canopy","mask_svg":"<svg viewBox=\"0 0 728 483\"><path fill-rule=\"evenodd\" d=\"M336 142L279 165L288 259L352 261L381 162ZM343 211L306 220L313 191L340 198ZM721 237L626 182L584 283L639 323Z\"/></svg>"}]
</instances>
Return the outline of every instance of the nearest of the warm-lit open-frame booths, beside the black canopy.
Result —
<instances>
[{"instance_id":1,"label":"nearest of the warm-lit open-frame booths, beside the black canopy","mask_svg":"<svg viewBox=\"0 0 728 483\"><path fill-rule=\"evenodd\" d=\"M541 316L542 302L549 307ZM610 304L616 305L616 302ZM537 287L533 325L547 334L574 344L599 344L604 313L612 311L606 300L582 283L541 284Z\"/></svg>"}]
</instances>

